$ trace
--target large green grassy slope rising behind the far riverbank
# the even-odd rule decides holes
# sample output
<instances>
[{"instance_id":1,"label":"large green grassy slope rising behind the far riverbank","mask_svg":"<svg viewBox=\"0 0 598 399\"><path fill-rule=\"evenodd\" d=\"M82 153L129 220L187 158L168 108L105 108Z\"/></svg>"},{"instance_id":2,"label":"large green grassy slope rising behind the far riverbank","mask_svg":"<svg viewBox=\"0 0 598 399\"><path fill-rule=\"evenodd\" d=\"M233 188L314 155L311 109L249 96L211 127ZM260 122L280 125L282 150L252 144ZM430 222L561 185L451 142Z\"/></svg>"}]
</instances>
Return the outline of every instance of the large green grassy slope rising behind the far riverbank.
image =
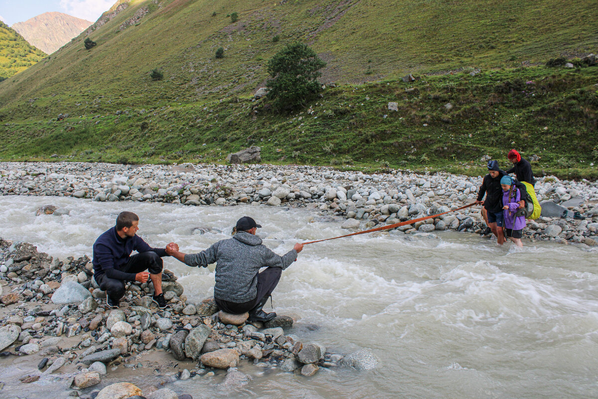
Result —
<instances>
[{"instance_id":1,"label":"large green grassy slope rising behind the far riverbank","mask_svg":"<svg viewBox=\"0 0 598 399\"><path fill-rule=\"evenodd\" d=\"M596 177L588 165L598 153L598 68L501 68L596 52L593 2L558 10L554 0L485 8L473 0L248 3L133 1L91 33L92 50L82 35L0 83L0 120L8 123L0 126L0 159L213 161L257 144L267 162L463 170L517 147L542 157L536 167ZM144 6L151 13L139 25L118 31ZM233 11L236 23L226 17ZM383 81L327 89L313 115L271 115L259 102L252 114L249 96L266 79L267 60L293 39L328 61L322 81ZM225 58L217 60L220 46ZM486 72L426 77L413 92L396 80L467 67ZM149 79L152 68L163 81ZM386 109L389 101L399 112ZM70 117L56 121L60 112Z\"/></svg>"}]
</instances>

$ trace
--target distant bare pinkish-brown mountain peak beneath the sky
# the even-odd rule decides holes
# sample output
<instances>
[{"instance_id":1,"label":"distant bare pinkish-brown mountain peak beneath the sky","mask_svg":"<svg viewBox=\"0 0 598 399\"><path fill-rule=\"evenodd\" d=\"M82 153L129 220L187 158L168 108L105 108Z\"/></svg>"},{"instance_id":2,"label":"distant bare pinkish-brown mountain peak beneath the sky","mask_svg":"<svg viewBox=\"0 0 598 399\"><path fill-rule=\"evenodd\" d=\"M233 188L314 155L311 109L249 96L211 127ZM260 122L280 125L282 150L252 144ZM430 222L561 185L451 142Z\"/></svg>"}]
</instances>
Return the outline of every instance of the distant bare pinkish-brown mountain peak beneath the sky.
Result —
<instances>
[{"instance_id":1,"label":"distant bare pinkish-brown mountain peak beneath the sky","mask_svg":"<svg viewBox=\"0 0 598 399\"><path fill-rule=\"evenodd\" d=\"M25 22L17 22L12 28L30 44L51 54L78 36L91 23L68 14L51 11L39 14Z\"/></svg>"}]
</instances>

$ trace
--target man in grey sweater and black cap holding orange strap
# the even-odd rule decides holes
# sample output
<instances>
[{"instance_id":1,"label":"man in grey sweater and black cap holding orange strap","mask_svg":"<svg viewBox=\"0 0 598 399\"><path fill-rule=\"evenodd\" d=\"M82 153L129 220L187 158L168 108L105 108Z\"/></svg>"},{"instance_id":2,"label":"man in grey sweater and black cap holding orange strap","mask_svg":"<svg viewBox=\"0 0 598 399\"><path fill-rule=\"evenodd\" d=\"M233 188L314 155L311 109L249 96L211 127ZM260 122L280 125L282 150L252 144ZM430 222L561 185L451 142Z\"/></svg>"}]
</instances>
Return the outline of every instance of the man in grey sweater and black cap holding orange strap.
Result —
<instances>
[{"instance_id":1,"label":"man in grey sweater and black cap holding orange strap","mask_svg":"<svg viewBox=\"0 0 598 399\"><path fill-rule=\"evenodd\" d=\"M214 299L227 313L249 312L249 321L269 321L276 313L266 313L264 304L278 284L282 270L297 260L303 245L296 243L285 255L274 254L255 235L261 227L244 216L237 221L233 238L221 240L199 254L184 254L175 246L166 253L192 267L208 267L216 262ZM260 269L267 269L260 273Z\"/></svg>"}]
</instances>

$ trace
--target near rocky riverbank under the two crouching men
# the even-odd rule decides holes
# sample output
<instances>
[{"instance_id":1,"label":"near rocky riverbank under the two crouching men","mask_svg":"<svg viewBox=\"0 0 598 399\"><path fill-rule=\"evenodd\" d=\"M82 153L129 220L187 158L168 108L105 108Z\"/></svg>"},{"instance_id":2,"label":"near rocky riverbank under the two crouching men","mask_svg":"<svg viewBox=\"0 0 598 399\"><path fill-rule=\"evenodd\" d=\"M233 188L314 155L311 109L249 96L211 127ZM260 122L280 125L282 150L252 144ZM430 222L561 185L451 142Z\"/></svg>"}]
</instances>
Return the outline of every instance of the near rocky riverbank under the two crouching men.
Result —
<instances>
[{"instance_id":1,"label":"near rocky riverbank under the two crouching men","mask_svg":"<svg viewBox=\"0 0 598 399\"><path fill-rule=\"evenodd\" d=\"M147 283L130 284L120 308L109 309L92 276L86 256L60 261L29 243L0 239L0 366L18 360L29 370L12 379L0 377L3 397L59 383L65 395L84 398L190 398L179 397L167 384L209 378L223 369L227 374L219 386L234 388L251 379L236 368L243 362L306 377L322 367L368 370L378 363L365 350L341 355L320 343L301 342L288 334L301 331L297 316L277 316L264 325L249 323L247 314L218 312L213 298L191 303L168 270L163 273L169 304L164 310L152 302L153 287ZM153 382L124 383L123 370L137 370ZM99 394L96 386L103 387Z\"/></svg>"}]
</instances>

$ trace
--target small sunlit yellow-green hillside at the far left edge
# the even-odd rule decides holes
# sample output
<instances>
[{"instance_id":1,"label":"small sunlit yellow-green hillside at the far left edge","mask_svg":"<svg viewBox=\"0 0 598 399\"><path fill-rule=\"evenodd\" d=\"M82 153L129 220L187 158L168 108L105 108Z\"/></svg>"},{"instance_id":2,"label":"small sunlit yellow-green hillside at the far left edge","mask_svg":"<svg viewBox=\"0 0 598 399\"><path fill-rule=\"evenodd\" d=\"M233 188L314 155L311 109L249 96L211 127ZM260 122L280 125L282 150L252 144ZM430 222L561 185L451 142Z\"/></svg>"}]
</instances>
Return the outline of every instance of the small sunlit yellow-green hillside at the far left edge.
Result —
<instances>
[{"instance_id":1,"label":"small sunlit yellow-green hillside at the far left edge","mask_svg":"<svg viewBox=\"0 0 598 399\"><path fill-rule=\"evenodd\" d=\"M23 36L0 21L0 81L39 62L44 51L30 45Z\"/></svg>"}]
</instances>

